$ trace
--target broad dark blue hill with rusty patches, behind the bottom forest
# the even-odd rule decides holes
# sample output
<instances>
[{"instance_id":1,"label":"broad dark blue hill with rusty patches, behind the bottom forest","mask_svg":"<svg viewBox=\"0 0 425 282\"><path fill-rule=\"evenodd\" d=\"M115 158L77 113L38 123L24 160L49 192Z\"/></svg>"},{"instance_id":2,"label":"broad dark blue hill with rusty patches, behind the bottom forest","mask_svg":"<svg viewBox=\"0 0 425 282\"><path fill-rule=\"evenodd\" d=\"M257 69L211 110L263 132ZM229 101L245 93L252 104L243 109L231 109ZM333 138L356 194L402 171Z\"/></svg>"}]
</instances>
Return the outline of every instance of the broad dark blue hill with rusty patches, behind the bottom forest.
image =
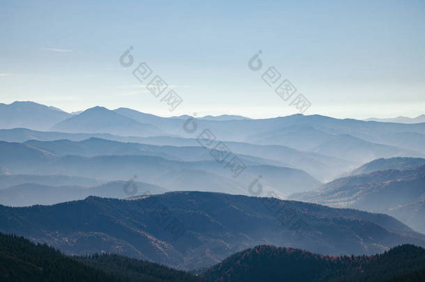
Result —
<instances>
[{"instance_id":1,"label":"broad dark blue hill with rusty patches, behind the bottom forest","mask_svg":"<svg viewBox=\"0 0 425 282\"><path fill-rule=\"evenodd\" d=\"M333 255L374 254L425 236L384 214L276 198L171 192L52 206L0 206L0 231L65 253L107 251L182 269L207 267L258 244Z\"/></svg>"}]
</instances>

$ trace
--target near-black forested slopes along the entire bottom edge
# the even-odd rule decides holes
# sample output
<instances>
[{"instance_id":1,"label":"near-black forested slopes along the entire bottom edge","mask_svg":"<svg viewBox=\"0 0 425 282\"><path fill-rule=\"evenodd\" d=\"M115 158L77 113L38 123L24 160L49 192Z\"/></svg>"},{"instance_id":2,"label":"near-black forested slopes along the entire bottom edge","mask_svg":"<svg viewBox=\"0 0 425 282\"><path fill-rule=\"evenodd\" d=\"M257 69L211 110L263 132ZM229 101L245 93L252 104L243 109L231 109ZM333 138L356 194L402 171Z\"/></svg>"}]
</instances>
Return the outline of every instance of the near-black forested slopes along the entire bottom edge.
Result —
<instances>
[{"instance_id":1,"label":"near-black forested slopes along the entire bottom edge","mask_svg":"<svg viewBox=\"0 0 425 282\"><path fill-rule=\"evenodd\" d=\"M0 281L425 281L425 249L405 244L375 256L323 256L263 245L190 274L114 254L65 256L0 233Z\"/></svg>"}]
</instances>

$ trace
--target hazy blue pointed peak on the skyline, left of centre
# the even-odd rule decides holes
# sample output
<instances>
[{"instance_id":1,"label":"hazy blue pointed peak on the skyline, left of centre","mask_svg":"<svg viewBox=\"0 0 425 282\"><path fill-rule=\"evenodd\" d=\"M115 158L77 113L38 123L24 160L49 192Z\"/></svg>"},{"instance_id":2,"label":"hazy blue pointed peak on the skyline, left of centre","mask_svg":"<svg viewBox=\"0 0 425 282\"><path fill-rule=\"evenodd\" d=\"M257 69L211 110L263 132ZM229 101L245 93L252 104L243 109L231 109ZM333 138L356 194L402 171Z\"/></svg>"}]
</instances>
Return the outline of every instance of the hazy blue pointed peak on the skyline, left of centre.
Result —
<instances>
[{"instance_id":1,"label":"hazy blue pointed peak on the skyline, left of centre","mask_svg":"<svg viewBox=\"0 0 425 282\"><path fill-rule=\"evenodd\" d=\"M70 133L109 133L122 136L160 134L153 125L139 123L104 107L87 109L54 125L51 130Z\"/></svg>"}]
</instances>

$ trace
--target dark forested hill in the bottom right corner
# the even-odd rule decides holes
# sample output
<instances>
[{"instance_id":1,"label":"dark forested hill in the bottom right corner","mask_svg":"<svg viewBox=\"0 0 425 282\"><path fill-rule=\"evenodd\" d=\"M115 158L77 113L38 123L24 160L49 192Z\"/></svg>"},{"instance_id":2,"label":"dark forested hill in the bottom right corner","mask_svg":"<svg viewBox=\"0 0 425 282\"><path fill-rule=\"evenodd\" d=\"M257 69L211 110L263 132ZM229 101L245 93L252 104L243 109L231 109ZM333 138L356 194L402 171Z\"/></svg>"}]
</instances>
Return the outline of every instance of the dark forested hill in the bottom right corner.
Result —
<instances>
[{"instance_id":1,"label":"dark forested hill in the bottom right corner","mask_svg":"<svg viewBox=\"0 0 425 282\"><path fill-rule=\"evenodd\" d=\"M425 250L396 246L376 256L322 256L299 249L256 246L226 258L202 276L215 282L412 281L425 279Z\"/></svg>"}]
</instances>

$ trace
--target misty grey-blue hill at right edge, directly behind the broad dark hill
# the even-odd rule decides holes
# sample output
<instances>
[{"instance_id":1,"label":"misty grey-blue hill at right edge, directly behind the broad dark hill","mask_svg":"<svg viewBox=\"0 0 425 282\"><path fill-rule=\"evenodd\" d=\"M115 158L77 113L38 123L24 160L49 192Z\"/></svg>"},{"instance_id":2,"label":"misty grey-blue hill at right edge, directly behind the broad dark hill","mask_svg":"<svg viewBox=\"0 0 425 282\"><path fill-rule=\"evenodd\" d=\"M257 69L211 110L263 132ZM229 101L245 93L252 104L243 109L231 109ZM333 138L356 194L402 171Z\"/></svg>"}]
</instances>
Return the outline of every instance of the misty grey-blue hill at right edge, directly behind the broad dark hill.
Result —
<instances>
[{"instance_id":1,"label":"misty grey-blue hill at right edge, directly behind the broad dark hill","mask_svg":"<svg viewBox=\"0 0 425 282\"><path fill-rule=\"evenodd\" d=\"M378 160L378 165L366 164L364 169L368 166L381 167L380 162L384 161ZM410 166L412 162L408 163ZM405 164L403 159L394 159L394 166ZM401 171L389 169L339 178L315 191L294 194L289 198L332 207L383 212L425 233L425 165Z\"/></svg>"}]
</instances>

